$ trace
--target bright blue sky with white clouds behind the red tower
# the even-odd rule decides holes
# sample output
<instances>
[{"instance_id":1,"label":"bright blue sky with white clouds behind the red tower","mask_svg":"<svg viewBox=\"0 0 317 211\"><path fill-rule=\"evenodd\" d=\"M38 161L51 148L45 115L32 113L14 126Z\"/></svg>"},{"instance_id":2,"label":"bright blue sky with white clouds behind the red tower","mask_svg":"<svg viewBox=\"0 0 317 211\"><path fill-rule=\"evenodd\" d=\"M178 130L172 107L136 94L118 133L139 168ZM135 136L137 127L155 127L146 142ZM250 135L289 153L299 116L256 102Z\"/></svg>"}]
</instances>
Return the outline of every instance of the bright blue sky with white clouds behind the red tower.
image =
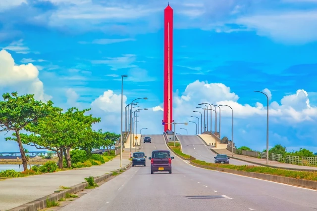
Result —
<instances>
[{"instance_id":1,"label":"bright blue sky with white clouds behind the red tower","mask_svg":"<svg viewBox=\"0 0 317 211\"><path fill-rule=\"evenodd\" d=\"M234 109L234 141L317 152L317 0L170 0L174 9L174 117L198 103ZM138 97L138 128L162 133L163 9L157 0L0 1L0 90L35 93L62 108L92 108L119 133L120 75L127 102ZM14 62L13 62L14 60ZM264 106L263 106L264 105ZM221 136L231 139L223 108ZM195 126L188 125L189 133ZM145 130L143 130L145 131ZM182 131L184 133L184 131ZM26 147L29 148L29 147ZM31 149L31 148L29 148ZM4 141L0 152L16 151Z\"/></svg>"}]
</instances>

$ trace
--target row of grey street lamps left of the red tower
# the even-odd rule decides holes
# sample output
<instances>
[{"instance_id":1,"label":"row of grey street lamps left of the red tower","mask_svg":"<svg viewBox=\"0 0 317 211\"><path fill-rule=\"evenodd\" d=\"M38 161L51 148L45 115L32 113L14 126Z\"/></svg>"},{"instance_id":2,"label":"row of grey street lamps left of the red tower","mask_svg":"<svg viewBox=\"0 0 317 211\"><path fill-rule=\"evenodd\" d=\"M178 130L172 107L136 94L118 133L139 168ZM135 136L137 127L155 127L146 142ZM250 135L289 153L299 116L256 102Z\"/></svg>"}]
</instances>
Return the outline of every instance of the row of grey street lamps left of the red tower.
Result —
<instances>
[{"instance_id":1,"label":"row of grey street lamps left of the red tower","mask_svg":"<svg viewBox=\"0 0 317 211\"><path fill-rule=\"evenodd\" d=\"M123 78L125 78L125 77L128 77L128 76L127 75L122 75L121 76L120 167L122 167L122 149L123 149ZM131 149L132 149L132 124L133 124L133 134L137 133L137 124L136 123L138 122L137 121L138 115L136 115L136 114L138 112L140 112L141 110L148 110L147 108L141 108L141 109L137 109L137 110L132 112L133 108L140 108L140 106L137 106L138 102L135 102L136 100L139 100L139 99L147 100L148 98L147 97L140 97L140 98L134 99L131 103L129 103L125 107L125 112L124 112L124 131L127 131L128 128L129 128L129 131L130 131L130 154L131 154ZM130 106L131 106L131 108L130 108ZM129 113L130 113L130 121L129 121ZM133 118L132 118L132 114L133 114ZM136 118L136 121L134 120L135 118ZM132 122L132 120L133 120L133 122ZM142 129L147 129L147 127L142 128ZM140 129L140 133L141 133L142 129Z\"/></svg>"}]
</instances>

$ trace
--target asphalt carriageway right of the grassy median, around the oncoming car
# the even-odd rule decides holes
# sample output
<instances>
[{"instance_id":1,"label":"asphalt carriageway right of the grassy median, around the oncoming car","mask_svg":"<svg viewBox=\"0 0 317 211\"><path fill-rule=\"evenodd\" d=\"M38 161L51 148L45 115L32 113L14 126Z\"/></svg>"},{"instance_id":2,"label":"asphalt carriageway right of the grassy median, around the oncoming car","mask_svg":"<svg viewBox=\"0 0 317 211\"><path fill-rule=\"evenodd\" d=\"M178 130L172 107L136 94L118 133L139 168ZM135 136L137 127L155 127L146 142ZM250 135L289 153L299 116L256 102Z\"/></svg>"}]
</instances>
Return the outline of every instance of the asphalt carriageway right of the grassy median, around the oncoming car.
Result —
<instances>
[{"instance_id":1,"label":"asphalt carriageway right of the grassy median, around the oncoming car","mask_svg":"<svg viewBox=\"0 0 317 211\"><path fill-rule=\"evenodd\" d=\"M182 144L182 150L184 154L191 155L197 160L214 163L214 157L216 157L216 154L213 153L210 150L211 147L207 146L197 135L177 135L177 137ZM258 166L235 159L229 159L229 164Z\"/></svg>"}]
</instances>

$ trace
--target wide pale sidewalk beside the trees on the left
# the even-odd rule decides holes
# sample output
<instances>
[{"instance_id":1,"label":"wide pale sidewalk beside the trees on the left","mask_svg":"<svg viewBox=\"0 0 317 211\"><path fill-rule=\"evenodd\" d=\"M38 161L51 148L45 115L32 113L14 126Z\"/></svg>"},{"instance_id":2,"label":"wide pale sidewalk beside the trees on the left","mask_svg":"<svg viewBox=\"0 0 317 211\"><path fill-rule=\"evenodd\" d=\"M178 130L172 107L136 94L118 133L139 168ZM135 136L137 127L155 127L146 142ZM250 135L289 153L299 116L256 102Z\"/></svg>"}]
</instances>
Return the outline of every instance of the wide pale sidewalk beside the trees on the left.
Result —
<instances>
[{"instance_id":1,"label":"wide pale sidewalk beside the trees on the left","mask_svg":"<svg viewBox=\"0 0 317 211\"><path fill-rule=\"evenodd\" d=\"M129 149L122 153L122 167L129 165ZM54 193L59 186L71 187L85 177L101 176L120 169L120 155L101 166L0 180L0 211L9 210Z\"/></svg>"}]
</instances>

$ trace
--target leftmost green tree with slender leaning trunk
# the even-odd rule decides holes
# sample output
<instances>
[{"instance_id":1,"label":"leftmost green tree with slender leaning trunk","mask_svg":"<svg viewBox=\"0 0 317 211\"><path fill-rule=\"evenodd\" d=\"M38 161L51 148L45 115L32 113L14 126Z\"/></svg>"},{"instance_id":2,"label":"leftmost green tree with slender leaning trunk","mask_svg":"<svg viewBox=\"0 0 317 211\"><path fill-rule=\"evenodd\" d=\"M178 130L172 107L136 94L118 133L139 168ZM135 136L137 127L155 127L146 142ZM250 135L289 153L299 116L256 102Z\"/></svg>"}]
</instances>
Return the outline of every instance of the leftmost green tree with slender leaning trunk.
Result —
<instances>
[{"instance_id":1,"label":"leftmost green tree with slender leaning trunk","mask_svg":"<svg viewBox=\"0 0 317 211\"><path fill-rule=\"evenodd\" d=\"M20 137L20 130L29 124L36 124L37 121L49 114L49 107L52 101L44 103L34 99L34 94L18 96L17 92L2 94L3 101L0 101L0 131L14 131L16 142L19 145L23 169L27 169L27 158L23 149Z\"/></svg>"}]
</instances>

